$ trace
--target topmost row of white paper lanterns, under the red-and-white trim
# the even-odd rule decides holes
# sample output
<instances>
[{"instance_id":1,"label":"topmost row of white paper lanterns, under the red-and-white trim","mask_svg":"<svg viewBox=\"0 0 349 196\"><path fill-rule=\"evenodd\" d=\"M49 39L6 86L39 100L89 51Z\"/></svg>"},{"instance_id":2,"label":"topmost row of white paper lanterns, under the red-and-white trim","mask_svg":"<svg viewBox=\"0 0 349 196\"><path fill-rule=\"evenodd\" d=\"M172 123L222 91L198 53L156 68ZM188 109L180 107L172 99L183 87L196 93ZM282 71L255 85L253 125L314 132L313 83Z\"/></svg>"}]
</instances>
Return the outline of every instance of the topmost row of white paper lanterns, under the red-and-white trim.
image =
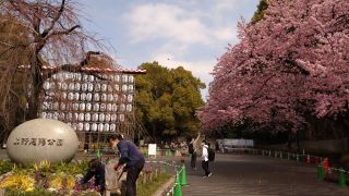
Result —
<instances>
[{"instance_id":1,"label":"topmost row of white paper lanterns, under the red-and-white trim","mask_svg":"<svg viewBox=\"0 0 349 196\"><path fill-rule=\"evenodd\" d=\"M113 82L120 82L122 79L123 83L133 83L134 76L128 75L128 74L104 74L101 76L105 79L113 81ZM74 79L74 81L84 81L84 82L94 82L97 81L100 82L101 79L95 77L94 75L87 75L87 74L81 74L81 73L58 73L52 75L53 79L64 81L64 79Z\"/></svg>"}]
</instances>

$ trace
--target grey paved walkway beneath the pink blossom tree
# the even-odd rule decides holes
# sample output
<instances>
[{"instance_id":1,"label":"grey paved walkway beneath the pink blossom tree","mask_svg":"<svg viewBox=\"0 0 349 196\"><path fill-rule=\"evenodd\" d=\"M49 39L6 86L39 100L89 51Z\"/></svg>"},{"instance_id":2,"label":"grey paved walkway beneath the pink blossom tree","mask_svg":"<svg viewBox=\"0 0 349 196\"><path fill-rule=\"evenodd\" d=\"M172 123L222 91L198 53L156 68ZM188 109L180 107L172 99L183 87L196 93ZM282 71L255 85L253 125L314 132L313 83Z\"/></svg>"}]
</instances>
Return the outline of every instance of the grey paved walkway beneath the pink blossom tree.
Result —
<instances>
[{"instance_id":1,"label":"grey paved walkway beneath the pink blossom tree","mask_svg":"<svg viewBox=\"0 0 349 196\"><path fill-rule=\"evenodd\" d=\"M316 168L294 161L252 155L216 155L210 164L213 175L203 179L201 162L197 170L189 169L182 187L184 196L261 196L261 195L347 195L348 187L318 182Z\"/></svg>"}]
</instances>

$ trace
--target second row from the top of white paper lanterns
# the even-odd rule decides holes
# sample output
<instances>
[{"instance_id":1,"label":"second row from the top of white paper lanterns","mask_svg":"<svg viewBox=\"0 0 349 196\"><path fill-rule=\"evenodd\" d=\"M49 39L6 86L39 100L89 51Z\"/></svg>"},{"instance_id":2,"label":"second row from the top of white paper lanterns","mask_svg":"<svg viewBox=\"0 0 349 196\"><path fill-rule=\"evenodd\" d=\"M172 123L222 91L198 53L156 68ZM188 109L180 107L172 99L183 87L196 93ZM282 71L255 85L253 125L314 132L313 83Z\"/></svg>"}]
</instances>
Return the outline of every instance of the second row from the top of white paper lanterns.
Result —
<instances>
[{"instance_id":1,"label":"second row from the top of white paper lanterns","mask_svg":"<svg viewBox=\"0 0 349 196\"><path fill-rule=\"evenodd\" d=\"M115 84L99 84L99 83L61 83L61 82L45 82L44 83L45 90L55 90L56 88L59 90L70 90L70 91L119 91L120 85ZM122 91L133 91L134 85L122 85Z\"/></svg>"}]
</instances>

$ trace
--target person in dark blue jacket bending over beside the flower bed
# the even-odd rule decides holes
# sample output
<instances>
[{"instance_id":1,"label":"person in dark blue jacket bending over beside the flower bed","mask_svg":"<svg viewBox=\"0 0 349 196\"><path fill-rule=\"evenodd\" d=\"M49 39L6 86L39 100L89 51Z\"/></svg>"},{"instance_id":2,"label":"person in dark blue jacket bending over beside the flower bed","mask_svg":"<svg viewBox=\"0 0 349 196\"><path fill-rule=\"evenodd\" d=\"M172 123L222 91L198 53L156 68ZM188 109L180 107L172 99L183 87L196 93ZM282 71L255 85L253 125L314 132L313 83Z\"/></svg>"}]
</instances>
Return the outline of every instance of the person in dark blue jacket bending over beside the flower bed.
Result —
<instances>
[{"instance_id":1,"label":"person in dark blue jacket bending over beside the flower bed","mask_svg":"<svg viewBox=\"0 0 349 196\"><path fill-rule=\"evenodd\" d=\"M112 148L117 147L120 152L120 158L115 169L118 170L122 164L128 171L127 176L127 196L136 195L136 180L144 167L145 159L139 148L130 140L123 139L122 135L111 135L109 144Z\"/></svg>"}]
</instances>

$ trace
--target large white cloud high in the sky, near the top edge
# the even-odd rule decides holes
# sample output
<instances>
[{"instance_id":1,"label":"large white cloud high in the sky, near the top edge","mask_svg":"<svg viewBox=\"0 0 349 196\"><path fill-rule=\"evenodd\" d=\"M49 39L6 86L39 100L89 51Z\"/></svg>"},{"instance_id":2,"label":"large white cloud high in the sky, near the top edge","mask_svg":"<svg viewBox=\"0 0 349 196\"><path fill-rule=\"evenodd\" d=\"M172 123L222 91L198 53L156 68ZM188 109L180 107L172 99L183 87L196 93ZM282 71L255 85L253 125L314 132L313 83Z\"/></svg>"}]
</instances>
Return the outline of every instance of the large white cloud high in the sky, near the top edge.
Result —
<instances>
[{"instance_id":1,"label":"large white cloud high in the sky, near the top edge","mask_svg":"<svg viewBox=\"0 0 349 196\"><path fill-rule=\"evenodd\" d=\"M198 17L171 4L143 4L135 7L125 20L133 42L170 39L183 44L208 44L205 25Z\"/></svg>"}]
</instances>

